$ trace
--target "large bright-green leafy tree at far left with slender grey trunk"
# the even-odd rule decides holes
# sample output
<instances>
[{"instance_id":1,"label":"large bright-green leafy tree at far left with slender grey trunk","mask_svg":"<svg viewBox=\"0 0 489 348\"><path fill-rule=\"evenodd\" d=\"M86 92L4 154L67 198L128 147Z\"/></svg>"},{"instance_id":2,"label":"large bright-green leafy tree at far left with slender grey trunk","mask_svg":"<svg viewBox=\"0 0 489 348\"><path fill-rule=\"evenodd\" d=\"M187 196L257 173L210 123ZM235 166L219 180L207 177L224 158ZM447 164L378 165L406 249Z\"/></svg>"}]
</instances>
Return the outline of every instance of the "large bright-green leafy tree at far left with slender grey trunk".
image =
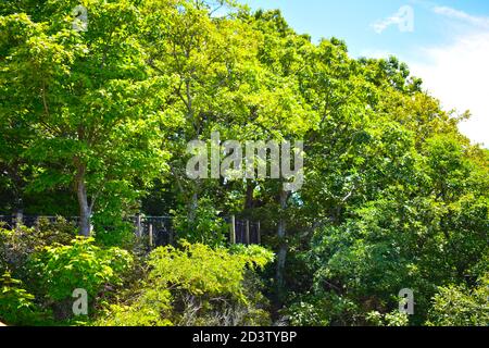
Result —
<instances>
[{"instance_id":1,"label":"large bright-green leafy tree at far left with slender grey trunk","mask_svg":"<svg viewBox=\"0 0 489 348\"><path fill-rule=\"evenodd\" d=\"M73 1L1 17L7 117L28 123L35 185L73 185L80 234L95 204L130 202L164 166L158 110L163 78L149 78L133 1L91 1L86 32L73 27ZM131 25L127 25L131 23ZM9 78L15 76L15 78ZM139 186L139 187L135 187ZM117 209L120 207L112 207Z\"/></svg>"}]
</instances>

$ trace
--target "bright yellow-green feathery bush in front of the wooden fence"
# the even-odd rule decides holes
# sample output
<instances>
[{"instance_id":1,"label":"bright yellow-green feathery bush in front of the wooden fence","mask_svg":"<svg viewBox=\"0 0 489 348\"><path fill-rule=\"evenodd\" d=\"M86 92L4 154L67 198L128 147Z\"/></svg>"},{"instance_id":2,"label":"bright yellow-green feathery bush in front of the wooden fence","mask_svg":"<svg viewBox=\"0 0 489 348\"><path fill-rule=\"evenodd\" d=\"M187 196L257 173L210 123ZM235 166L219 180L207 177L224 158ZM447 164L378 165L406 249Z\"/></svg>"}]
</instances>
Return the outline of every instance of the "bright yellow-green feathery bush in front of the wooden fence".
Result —
<instances>
[{"instance_id":1,"label":"bright yellow-green feathery bush in front of the wooden fence","mask_svg":"<svg viewBox=\"0 0 489 348\"><path fill-rule=\"evenodd\" d=\"M254 271L273 260L259 246L229 249L181 243L161 247L129 300L110 306L97 325L266 325L261 284ZM131 300L136 297L136 300Z\"/></svg>"}]
</instances>

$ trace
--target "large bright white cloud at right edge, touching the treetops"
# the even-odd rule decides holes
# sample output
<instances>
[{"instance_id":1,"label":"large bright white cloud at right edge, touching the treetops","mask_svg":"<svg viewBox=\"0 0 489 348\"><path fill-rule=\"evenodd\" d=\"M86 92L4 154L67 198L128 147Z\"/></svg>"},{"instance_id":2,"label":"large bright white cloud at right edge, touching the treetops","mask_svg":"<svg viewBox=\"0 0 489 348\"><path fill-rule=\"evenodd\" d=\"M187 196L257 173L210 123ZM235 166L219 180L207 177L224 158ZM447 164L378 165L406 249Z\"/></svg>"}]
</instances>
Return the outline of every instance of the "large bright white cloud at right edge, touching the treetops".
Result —
<instances>
[{"instance_id":1,"label":"large bright white cloud at right edge, touching the treetops","mask_svg":"<svg viewBox=\"0 0 489 348\"><path fill-rule=\"evenodd\" d=\"M471 110L460 129L475 142L489 147L489 30L472 32L443 47L424 49L423 63L411 71L424 80L446 110Z\"/></svg>"}]
</instances>

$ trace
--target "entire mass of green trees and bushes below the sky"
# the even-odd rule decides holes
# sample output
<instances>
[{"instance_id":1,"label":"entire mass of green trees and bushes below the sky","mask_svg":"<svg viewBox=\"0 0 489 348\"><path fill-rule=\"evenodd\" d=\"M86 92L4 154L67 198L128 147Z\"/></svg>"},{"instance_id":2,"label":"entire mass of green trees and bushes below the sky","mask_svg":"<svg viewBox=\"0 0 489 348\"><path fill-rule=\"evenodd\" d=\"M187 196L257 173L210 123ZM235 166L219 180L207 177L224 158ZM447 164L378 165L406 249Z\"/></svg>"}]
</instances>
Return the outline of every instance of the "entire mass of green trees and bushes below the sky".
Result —
<instances>
[{"instance_id":1,"label":"entire mass of green trees and bushes below the sky","mask_svg":"<svg viewBox=\"0 0 489 348\"><path fill-rule=\"evenodd\" d=\"M0 322L487 326L489 150L422 77L234 0L1 1L0 215L58 217L0 224Z\"/></svg>"}]
</instances>

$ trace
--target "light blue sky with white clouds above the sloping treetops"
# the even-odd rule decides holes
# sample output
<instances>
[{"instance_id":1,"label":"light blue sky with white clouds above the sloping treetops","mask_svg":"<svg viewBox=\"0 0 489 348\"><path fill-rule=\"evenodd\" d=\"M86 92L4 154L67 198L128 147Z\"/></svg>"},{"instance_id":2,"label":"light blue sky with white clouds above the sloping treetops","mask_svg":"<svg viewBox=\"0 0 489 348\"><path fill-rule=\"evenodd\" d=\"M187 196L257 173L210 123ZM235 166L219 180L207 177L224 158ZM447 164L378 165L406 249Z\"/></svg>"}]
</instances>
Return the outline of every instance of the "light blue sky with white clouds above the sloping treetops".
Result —
<instances>
[{"instance_id":1,"label":"light blue sky with white clouds above the sloping treetops","mask_svg":"<svg viewBox=\"0 0 489 348\"><path fill-rule=\"evenodd\" d=\"M447 110L471 110L461 130L489 147L489 1L242 0L280 9L298 32L343 39L352 57L399 57ZM406 21L412 13L412 21ZM412 24L412 25L411 25Z\"/></svg>"}]
</instances>

